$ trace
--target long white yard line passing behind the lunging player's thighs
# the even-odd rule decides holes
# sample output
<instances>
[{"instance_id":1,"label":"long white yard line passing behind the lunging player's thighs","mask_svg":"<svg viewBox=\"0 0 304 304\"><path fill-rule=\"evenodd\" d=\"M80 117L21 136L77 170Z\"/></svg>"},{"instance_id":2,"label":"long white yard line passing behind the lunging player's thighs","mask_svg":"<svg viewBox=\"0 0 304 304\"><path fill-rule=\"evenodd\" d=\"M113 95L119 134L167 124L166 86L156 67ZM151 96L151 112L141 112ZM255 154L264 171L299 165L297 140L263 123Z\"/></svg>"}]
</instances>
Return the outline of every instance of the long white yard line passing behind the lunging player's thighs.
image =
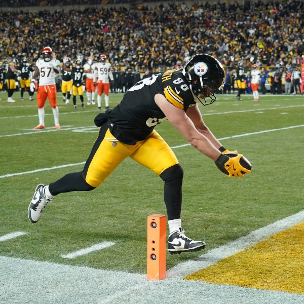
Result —
<instances>
[{"instance_id":1,"label":"long white yard line passing behind the lunging player's thighs","mask_svg":"<svg viewBox=\"0 0 304 304\"><path fill-rule=\"evenodd\" d=\"M261 134L261 133L268 133L268 132L274 132L274 131L288 130L288 129L294 129L294 128L301 128L301 127L304 127L304 125L297 125L297 126L290 126L290 127L279 128L279 129L270 129L270 130L263 130L263 131L257 131L257 132L251 132L251 133L244 133L244 134L239 134L239 135L232 135L232 136L218 138L218 140L224 140L224 139L230 139L230 138L242 137L242 136L249 136L249 135ZM189 146L189 145L191 145L191 144L185 143L185 144L181 144L178 146L172 146L171 148L176 149L176 148L181 148L181 147L185 147L185 146ZM5 175L0 175L0 178L12 177L12 176L16 176L16 175L23 175L23 174L29 174L29 173L36 173L36 172L41 172L41 171L54 170L54 169L59 169L59 168L78 166L78 165L83 165L85 163L86 162L81 162L81 163L75 163L75 164L55 166L55 167L50 167L50 168L36 169L36 170L25 171L25 172L5 174Z\"/></svg>"}]
</instances>

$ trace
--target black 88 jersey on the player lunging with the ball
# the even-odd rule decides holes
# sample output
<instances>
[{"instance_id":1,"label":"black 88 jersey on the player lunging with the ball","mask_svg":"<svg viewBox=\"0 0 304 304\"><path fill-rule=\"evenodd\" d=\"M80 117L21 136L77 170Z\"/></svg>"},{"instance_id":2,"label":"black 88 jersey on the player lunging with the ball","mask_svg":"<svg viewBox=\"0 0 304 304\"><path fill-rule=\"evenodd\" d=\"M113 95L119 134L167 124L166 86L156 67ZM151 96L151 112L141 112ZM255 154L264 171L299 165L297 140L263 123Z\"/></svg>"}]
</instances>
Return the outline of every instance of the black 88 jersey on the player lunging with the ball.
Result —
<instances>
[{"instance_id":1,"label":"black 88 jersey on the player lunging with the ball","mask_svg":"<svg viewBox=\"0 0 304 304\"><path fill-rule=\"evenodd\" d=\"M142 79L131 87L123 100L115 108L106 112L110 124L115 125L136 141L144 140L156 125L166 119L154 101L154 96L158 93L184 111L195 104L182 69L168 70ZM113 135L116 136L116 134Z\"/></svg>"}]
</instances>

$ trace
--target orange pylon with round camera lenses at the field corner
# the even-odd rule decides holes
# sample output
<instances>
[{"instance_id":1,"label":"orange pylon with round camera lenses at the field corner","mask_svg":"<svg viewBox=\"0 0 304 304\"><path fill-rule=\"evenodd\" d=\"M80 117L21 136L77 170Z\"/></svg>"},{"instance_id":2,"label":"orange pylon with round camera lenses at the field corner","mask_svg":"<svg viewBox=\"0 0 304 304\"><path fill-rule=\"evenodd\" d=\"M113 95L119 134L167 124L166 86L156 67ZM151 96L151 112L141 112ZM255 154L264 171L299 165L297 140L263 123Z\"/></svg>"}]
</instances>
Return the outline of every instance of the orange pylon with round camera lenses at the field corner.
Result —
<instances>
[{"instance_id":1,"label":"orange pylon with round camera lenses at the field corner","mask_svg":"<svg viewBox=\"0 0 304 304\"><path fill-rule=\"evenodd\" d=\"M166 278L166 215L152 214L147 220L147 279Z\"/></svg>"}]
</instances>

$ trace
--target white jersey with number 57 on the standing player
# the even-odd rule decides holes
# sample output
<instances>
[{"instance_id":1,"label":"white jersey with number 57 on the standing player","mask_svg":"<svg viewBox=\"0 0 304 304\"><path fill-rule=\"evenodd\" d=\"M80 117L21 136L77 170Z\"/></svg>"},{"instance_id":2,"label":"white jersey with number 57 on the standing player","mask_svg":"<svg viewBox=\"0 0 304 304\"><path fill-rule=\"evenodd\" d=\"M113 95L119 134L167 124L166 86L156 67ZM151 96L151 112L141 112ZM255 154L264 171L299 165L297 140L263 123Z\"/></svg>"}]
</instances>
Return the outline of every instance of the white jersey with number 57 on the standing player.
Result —
<instances>
[{"instance_id":1,"label":"white jersey with number 57 on the standing player","mask_svg":"<svg viewBox=\"0 0 304 304\"><path fill-rule=\"evenodd\" d=\"M39 69L39 85L49 86L55 85L55 71L53 67L60 70L60 61L57 59L52 59L50 61L45 61L44 59L38 59L36 61L36 66Z\"/></svg>"}]
</instances>

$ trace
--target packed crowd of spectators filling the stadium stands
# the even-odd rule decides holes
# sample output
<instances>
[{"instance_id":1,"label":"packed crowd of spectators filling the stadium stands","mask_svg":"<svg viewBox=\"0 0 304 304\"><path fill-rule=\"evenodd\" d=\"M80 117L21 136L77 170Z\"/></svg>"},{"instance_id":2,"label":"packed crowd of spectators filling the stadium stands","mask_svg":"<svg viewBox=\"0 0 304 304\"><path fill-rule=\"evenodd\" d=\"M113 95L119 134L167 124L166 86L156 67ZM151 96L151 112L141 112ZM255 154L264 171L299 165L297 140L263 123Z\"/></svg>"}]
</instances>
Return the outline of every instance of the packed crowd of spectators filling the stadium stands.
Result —
<instances>
[{"instance_id":1,"label":"packed crowd of spectators filling the stadium stands","mask_svg":"<svg viewBox=\"0 0 304 304\"><path fill-rule=\"evenodd\" d=\"M302 0L0 12L0 20L3 62L26 56L34 63L47 45L60 61L105 54L116 70L141 72L183 65L196 53L217 57L228 70L239 60L249 69L285 70L300 67L304 54Z\"/></svg>"}]
</instances>

